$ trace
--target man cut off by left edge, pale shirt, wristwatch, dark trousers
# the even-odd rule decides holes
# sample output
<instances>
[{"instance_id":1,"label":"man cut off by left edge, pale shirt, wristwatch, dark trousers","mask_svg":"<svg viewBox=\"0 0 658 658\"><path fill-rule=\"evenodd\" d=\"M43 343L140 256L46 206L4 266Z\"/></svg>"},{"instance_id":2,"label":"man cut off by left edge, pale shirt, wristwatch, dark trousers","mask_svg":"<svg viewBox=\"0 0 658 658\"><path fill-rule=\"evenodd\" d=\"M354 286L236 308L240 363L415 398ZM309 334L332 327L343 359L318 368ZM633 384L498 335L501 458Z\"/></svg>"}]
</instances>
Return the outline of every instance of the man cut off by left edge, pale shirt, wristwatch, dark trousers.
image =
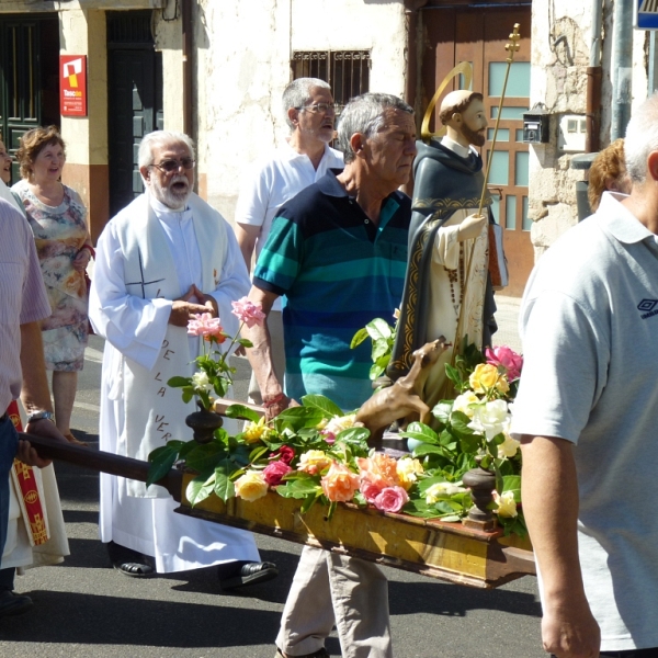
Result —
<instances>
[{"instance_id":1,"label":"man cut off by left edge, pale shirt, wristwatch, dark trousers","mask_svg":"<svg viewBox=\"0 0 658 658\"><path fill-rule=\"evenodd\" d=\"M4 184L0 181L0 184ZM0 198L0 556L7 540L9 520L9 472L14 457L32 466L46 466L26 441L19 441L7 408L19 397L27 412L25 431L58 439L46 378L44 349L38 320L50 315L50 304L42 279L34 236L25 218ZM13 574L11 575L13 583ZM32 606L3 587L0 579L0 617L20 614Z\"/></svg>"}]
</instances>

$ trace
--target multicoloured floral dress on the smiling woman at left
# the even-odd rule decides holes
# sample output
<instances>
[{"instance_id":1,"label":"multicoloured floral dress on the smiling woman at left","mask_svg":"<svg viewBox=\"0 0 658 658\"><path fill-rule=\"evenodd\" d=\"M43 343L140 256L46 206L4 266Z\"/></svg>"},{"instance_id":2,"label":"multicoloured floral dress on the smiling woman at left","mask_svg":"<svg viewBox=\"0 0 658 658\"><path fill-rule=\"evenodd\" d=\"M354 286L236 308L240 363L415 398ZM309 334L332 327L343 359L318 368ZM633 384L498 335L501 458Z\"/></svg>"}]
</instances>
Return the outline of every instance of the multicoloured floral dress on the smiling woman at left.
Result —
<instances>
[{"instance_id":1,"label":"multicoloured floral dress on the smiling woman at left","mask_svg":"<svg viewBox=\"0 0 658 658\"><path fill-rule=\"evenodd\" d=\"M25 206L53 311L42 322L46 367L81 371L89 303L84 273L73 270L72 262L88 236L87 208L78 193L66 185L57 207L42 203L27 181L20 181L12 190Z\"/></svg>"}]
</instances>

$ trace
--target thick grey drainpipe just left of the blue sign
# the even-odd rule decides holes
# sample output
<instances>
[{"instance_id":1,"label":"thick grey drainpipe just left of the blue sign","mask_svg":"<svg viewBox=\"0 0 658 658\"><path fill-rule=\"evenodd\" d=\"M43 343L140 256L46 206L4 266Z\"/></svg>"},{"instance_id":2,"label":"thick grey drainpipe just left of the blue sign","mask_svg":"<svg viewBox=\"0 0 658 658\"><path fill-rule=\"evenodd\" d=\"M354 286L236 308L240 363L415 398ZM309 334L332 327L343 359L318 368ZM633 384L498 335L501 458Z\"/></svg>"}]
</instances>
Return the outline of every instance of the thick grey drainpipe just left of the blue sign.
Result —
<instances>
[{"instance_id":1,"label":"thick grey drainpipe just left of the blue sign","mask_svg":"<svg viewBox=\"0 0 658 658\"><path fill-rule=\"evenodd\" d=\"M632 15L633 0L615 0L612 36L615 69L612 84L611 141L625 135L631 118L633 23L629 16Z\"/></svg>"}]
</instances>

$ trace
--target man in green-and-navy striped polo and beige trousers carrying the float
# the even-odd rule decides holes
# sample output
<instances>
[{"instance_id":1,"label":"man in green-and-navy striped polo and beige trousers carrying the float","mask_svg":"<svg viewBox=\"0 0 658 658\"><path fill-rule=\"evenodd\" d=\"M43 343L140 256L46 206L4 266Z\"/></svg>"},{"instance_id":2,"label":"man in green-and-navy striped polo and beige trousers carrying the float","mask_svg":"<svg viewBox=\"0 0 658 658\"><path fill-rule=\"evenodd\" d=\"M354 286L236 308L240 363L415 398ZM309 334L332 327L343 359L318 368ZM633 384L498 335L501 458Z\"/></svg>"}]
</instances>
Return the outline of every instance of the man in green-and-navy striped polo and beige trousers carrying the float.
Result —
<instances>
[{"instance_id":1,"label":"man in green-and-navy striped polo and beige trousers carrying the float","mask_svg":"<svg viewBox=\"0 0 658 658\"><path fill-rule=\"evenodd\" d=\"M330 170L277 213L253 275L251 300L283 300L285 384L272 367L266 325L253 327L249 361L268 418L306 394L345 411L372 394L370 348L355 331L393 319L407 268L410 200L398 191L416 156L413 111L400 99L352 99L338 126L342 171ZM309 582L313 585L309 586ZM345 658L392 658L388 592L372 563L305 547L283 613L277 656L328 656L333 624Z\"/></svg>"}]
</instances>

